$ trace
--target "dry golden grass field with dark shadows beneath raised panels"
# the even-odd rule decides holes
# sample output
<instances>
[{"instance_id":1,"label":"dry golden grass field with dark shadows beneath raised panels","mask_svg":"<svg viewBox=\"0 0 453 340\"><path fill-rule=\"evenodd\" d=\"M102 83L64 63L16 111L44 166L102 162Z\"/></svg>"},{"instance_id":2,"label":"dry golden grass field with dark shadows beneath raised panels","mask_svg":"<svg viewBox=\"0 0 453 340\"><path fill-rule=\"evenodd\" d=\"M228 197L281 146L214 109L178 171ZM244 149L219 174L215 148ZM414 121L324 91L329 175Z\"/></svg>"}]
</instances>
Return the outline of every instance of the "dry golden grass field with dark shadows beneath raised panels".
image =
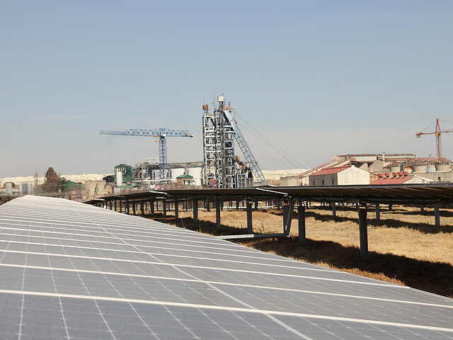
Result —
<instances>
[{"instance_id":1,"label":"dry golden grass field with dark shadows beneath raised panels","mask_svg":"<svg viewBox=\"0 0 453 340\"><path fill-rule=\"evenodd\" d=\"M155 220L196 229L208 234L246 233L246 211L222 211L222 228L215 228L215 212L200 210L193 224L192 212L180 211L180 220ZM282 232L282 212L254 211L253 231ZM333 217L330 208L306 210L306 244L299 244L297 215L292 220L292 237L236 241L245 246L315 263L358 275L386 280L413 288L453 297L453 210L441 210L441 228L434 226L434 212L419 208L396 207L368 212L369 259L359 250L358 215L355 208L338 207Z\"/></svg>"}]
</instances>

